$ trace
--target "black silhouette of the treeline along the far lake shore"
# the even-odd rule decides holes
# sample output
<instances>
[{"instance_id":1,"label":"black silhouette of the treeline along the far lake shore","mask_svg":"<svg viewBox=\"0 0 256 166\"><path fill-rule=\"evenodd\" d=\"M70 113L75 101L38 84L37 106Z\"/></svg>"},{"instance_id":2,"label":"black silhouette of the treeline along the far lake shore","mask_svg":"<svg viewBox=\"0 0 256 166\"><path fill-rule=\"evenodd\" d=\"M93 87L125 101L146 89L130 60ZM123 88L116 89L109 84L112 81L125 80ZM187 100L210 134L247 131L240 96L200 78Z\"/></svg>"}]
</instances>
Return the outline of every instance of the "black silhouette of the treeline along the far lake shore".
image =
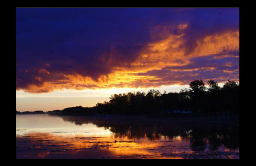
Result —
<instances>
[{"instance_id":1,"label":"black silhouette of the treeline along the far lake shore","mask_svg":"<svg viewBox=\"0 0 256 166\"><path fill-rule=\"evenodd\" d=\"M220 87L214 80L190 82L179 93L159 90L111 95L109 102L94 107L76 106L48 111L56 115L156 115L173 113L239 114L239 83L228 80Z\"/></svg>"}]
</instances>

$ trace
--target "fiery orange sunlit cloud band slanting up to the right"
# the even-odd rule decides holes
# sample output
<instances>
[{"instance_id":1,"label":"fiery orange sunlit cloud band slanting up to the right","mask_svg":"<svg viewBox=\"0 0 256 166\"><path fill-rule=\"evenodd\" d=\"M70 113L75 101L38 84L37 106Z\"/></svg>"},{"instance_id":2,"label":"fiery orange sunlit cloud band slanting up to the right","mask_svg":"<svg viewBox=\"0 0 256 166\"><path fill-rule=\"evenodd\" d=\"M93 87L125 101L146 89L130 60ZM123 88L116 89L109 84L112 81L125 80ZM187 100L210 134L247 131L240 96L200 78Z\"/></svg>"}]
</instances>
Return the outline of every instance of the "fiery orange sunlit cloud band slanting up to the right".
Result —
<instances>
[{"instance_id":1,"label":"fiery orange sunlit cloud band slanting up to the right","mask_svg":"<svg viewBox=\"0 0 256 166\"><path fill-rule=\"evenodd\" d=\"M188 27L188 24L178 25L176 27L176 34L168 31L168 26L157 26L153 28L151 37L154 42L148 43L146 47L143 47L139 52L139 56L133 62L115 65L111 68L111 73L102 74L96 80L77 72L74 74L59 73L65 79L59 79L57 81L48 80L40 86L30 84L25 91L42 93L62 88L154 87L156 85L159 86L162 78L148 75L147 72L162 70L166 67L186 66L191 64L192 58L196 57L218 55L216 57L218 59L220 56L227 57L234 51L239 52L239 30L211 34L198 38L195 41L190 41L186 39L186 29ZM192 49L188 49L188 46L193 47L190 47ZM105 61L105 56L102 56L101 60ZM113 56L106 63L111 65L111 61L113 61ZM48 63L46 64L46 66L49 65ZM225 65L229 67L232 64ZM212 72L215 69L215 67L203 67L170 70L174 72L193 72L198 70ZM233 73L233 71L229 70L223 70L223 72ZM45 68L38 70L38 73L50 74ZM191 73L191 77L198 75L199 73ZM173 75L173 78L175 77L181 76ZM43 78L38 76L35 79L38 81L43 80ZM177 80L173 82L176 84ZM163 84L170 83L163 82Z\"/></svg>"}]
</instances>

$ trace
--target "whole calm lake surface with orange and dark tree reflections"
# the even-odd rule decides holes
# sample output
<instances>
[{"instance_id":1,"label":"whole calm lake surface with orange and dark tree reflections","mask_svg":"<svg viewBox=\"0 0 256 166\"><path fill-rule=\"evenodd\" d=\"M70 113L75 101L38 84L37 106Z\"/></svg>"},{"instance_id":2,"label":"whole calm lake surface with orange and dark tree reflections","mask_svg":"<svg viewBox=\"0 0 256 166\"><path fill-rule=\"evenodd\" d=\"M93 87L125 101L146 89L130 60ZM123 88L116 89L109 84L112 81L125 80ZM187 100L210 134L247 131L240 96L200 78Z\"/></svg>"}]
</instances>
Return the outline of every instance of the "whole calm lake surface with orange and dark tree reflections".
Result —
<instances>
[{"instance_id":1,"label":"whole calm lake surface with orange and dark tree reflections","mask_svg":"<svg viewBox=\"0 0 256 166\"><path fill-rule=\"evenodd\" d=\"M239 116L16 115L16 157L239 158Z\"/></svg>"}]
</instances>

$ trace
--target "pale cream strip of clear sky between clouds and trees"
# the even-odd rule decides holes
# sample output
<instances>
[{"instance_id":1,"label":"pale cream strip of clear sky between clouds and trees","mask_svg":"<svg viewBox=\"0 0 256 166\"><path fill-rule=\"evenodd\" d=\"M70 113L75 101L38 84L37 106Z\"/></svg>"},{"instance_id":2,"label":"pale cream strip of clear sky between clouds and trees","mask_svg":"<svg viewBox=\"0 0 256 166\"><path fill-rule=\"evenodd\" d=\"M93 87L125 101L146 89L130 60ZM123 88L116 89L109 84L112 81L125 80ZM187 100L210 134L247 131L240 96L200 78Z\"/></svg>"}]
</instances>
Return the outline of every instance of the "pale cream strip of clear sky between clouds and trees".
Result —
<instances>
[{"instance_id":1,"label":"pale cream strip of clear sky between clouds and trees","mask_svg":"<svg viewBox=\"0 0 256 166\"><path fill-rule=\"evenodd\" d=\"M219 83L220 87L223 85L224 83ZM108 102L111 94L123 94L133 91L147 93L150 89L159 90L163 94L164 91L166 91L166 93L180 92L180 90L184 88L189 88L189 85L162 85L155 88L63 89L41 94L16 91L16 110L20 112L35 110L49 111L55 109L62 110L64 108L80 105L83 107L93 107L98 102Z\"/></svg>"}]
</instances>

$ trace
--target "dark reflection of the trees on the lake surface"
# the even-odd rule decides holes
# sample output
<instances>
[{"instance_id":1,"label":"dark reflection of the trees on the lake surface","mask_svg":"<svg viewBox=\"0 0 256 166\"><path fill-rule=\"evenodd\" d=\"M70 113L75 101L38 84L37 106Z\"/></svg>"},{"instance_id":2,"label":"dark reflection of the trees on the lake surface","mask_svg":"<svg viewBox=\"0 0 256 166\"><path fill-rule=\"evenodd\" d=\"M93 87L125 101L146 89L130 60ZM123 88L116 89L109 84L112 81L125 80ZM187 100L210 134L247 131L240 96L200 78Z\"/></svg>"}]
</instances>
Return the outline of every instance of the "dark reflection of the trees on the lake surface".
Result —
<instances>
[{"instance_id":1,"label":"dark reflection of the trees on the lake surface","mask_svg":"<svg viewBox=\"0 0 256 166\"><path fill-rule=\"evenodd\" d=\"M109 129L115 137L140 139L147 137L157 140L161 136L173 138L180 136L190 140L191 149L204 151L209 143L212 151L221 145L229 149L239 147L239 122L228 123L227 119L209 118L120 118L120 117L62 117L64 121L75 124L95 124ZM237 120L235 117L234 119ZM233 120L234 120L233 119ZM232 119L231 119L232 120ZM238 117L239 120L239 117ZM225 121L226 123L223 123ZM232 128L230 127L232 126Z\"/></svg>"}]
</instances>

